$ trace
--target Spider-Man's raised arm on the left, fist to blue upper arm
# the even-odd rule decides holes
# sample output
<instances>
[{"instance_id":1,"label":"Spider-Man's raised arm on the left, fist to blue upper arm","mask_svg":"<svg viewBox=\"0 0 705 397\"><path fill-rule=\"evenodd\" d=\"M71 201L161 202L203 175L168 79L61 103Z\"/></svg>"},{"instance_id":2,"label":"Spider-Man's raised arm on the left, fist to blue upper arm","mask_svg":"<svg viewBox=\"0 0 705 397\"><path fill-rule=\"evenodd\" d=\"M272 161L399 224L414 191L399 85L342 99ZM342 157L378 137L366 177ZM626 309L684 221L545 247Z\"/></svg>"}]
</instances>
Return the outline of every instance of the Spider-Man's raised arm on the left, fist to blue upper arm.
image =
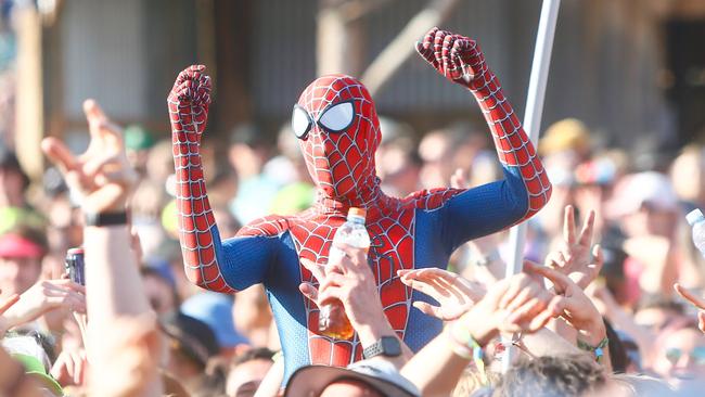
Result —
<instances>
[{"instance_id":1,"label":"Spider-Man's raised arm on the left, fist to blue upper arm","mask_svg":"<svg viewBox=\"0 0 705 397\"><path fill-rule=\"evenodd\" d=\"M167 100L177 181L179 242L187 277L194 284L232 293L262 281L272 256L271 239L235 238L220 242L206 194L201 164L201 137L210 104L205 66L179 74Z\"/></svg>"}]
</instances>

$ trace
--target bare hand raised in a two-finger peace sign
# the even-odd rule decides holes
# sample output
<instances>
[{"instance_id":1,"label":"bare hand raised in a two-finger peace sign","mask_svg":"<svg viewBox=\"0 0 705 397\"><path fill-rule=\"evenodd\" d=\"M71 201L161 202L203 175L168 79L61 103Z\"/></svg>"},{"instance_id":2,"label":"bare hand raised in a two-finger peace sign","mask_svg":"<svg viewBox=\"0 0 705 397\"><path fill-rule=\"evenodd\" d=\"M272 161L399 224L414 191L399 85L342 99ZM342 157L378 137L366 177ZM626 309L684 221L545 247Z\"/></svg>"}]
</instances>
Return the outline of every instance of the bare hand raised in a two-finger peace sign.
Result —
<instances>
[{"instance_id":1,"label":"bare hand raised in a two-finger peace sign","mask_svg":"<svg viewBox=\"0 0 705 397\"><path fill-rule=\"evenodd\" d=\"M594 218L594 210L590 210L578 234L575 225L575 210L572 205L566 205L563 217L562 246L546 257L546 266L569 277L582 290L598 277L604 262L600 245L592 246Z\"/></svg>"}]
</instances>

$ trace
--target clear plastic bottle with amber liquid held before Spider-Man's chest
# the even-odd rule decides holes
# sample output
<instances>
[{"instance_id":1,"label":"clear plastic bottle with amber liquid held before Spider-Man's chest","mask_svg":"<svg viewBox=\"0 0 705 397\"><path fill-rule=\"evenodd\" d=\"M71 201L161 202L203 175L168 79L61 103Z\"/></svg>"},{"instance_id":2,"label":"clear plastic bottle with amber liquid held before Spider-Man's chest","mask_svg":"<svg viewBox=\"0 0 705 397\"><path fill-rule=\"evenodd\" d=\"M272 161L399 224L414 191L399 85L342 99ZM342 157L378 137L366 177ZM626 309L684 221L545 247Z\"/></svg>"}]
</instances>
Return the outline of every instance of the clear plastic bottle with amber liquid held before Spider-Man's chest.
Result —
<instances>
[{"instance_id":1,"label":"clear plastic bottle with amber liquid held before Spider-Man's chest","mask_svg":"<svg viewBox=\"0 0 705 397\"><path fill-rule=\"evenodd\" d=\"M370 234L364 228L367 213L362 208L350 208L347 214L347 221L343 223L333 236L333 246L328 254L329 262L338 262L345 253L336 245L347 244L356 248L362 248L367 253L370 249ZM349 340L355 330L345 313L343 303L339 300L321 303L318 316L318 330L321 334L338 340Z\"/></svg>"}]
</instances>

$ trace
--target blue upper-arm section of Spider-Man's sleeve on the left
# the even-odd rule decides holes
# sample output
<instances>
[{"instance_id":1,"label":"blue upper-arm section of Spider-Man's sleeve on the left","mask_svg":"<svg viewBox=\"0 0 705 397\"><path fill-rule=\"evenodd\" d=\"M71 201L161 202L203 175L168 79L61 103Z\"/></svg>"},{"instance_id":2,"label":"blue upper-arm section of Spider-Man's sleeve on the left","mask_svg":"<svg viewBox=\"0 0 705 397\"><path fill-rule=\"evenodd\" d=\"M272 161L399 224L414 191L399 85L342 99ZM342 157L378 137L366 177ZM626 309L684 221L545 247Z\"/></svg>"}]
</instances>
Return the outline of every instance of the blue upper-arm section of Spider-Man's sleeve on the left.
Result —
<instances>
[{"instance_id":1,"label":"blue upper-arm section of Spider-Man's sleeve on the left","mask_svg":"<svg viewBox=\"0 0 705 397\"><path fill-rule=\"evenodd\" d=\"M277 235L236 236L223 242L217 235L214 238L220 273L238 291L262 283L277 260L280 247Z\"/></svg>"}]
</instances>

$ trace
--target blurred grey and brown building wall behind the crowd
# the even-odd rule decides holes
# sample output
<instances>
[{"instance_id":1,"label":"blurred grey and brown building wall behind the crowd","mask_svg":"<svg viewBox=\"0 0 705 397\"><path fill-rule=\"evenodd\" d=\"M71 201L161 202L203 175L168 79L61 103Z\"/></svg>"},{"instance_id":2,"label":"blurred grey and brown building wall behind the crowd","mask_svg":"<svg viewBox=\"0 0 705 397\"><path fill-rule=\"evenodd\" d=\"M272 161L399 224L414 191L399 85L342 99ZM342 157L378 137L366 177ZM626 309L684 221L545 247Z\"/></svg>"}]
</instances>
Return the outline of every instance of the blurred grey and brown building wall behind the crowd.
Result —
<instances>
[{"instance_id":1,"label":"blurred grey and brown building wall behind the crowd","mask_svg":"<svg viewBox=\"0 0 705 397\"><path fill-rule=\"evenodd\" d=\"M273 133L316 77L320 35L328 34L318 27L321 10L352 1L368 0L59 1L52 21L42 23L38 48L41 132L86 130L80 103L95 98L118 121L167 136L165 99L174 78L184 66L204 63L216 85L208 133L225 139L247 120ZM354 21L355 51L341 55L345 61L350 50L352 71L367 67L430 3L380 2ZM520 114L540 3L459 0L443 23L480 42ZM603 143L623 146L645 140L676 148L702 138L704 41L704 1L563 0L543 126L578 117ZM415 55L376 94L376 103L381 114L406 119L419 132L479 118L466 92Z\"/></svg>"}]
</instances>

